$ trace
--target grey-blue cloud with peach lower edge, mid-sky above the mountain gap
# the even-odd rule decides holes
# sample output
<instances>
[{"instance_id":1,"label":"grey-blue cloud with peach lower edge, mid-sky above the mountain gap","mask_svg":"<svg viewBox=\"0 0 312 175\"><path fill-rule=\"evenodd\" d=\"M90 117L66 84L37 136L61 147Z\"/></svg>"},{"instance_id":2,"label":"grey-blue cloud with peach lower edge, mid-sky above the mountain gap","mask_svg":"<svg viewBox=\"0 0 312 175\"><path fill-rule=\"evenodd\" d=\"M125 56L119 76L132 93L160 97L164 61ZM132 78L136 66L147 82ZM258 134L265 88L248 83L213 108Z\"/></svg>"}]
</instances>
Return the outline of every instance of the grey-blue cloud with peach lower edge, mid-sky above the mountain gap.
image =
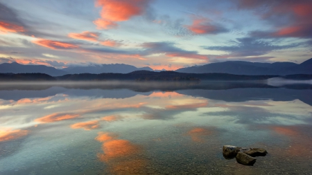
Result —
<instances>
[{"instance_id":1,"label":"grey-blue cloud with peach lower edge, mid-sky above the mountain gap","mask_svg":"<svg viewBox=\"0 0 312 175\"><path fill-rule=\"evenodd\" d=\"M141 44L146 48L142 54L151 55L157 53L164 53L167 57L184 57L191 59L205 59L208 60L207 55L200 55L197 51L188 51L177 48L171 42L148 42Z\"/></svg>"}]
</instances>

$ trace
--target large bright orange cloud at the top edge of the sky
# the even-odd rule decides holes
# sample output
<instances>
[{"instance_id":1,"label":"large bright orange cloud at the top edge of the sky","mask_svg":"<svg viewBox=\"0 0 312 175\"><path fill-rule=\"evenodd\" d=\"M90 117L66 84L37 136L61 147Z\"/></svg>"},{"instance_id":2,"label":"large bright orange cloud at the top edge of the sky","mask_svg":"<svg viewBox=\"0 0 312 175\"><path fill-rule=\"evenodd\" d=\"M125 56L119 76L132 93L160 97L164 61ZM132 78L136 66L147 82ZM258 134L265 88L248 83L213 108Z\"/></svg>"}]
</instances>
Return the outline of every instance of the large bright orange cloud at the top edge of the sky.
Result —
<instances>
[{"instance_id":1,"label":"large bright orange cloud at the top edge of the sky","mask_svg":"<svg viewBox=\"0 0 312 175\"><path fill-rule=\"evenodd\" d=\"M116 28L117 22L143 15L149 2L150 0L97 0L96 7L102 8L101 19L94 21L94 24L98 29Z\"/></svg>"}]
</instances>

